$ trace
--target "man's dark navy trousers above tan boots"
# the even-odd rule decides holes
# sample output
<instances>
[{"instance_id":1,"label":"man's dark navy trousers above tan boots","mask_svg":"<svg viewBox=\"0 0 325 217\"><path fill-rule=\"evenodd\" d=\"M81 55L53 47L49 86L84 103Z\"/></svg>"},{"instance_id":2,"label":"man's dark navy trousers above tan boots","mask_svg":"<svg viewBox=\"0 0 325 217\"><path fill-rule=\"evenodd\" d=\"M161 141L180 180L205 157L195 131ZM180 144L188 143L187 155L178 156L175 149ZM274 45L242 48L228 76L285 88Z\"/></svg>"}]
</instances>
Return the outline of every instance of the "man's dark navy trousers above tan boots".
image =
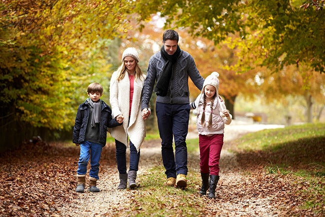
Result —
<instances>
[{"instance_id":1,"label":"man's dark navy trousers above tan boots","mask_svg":"<svg viewBox=\"0 0 325 217\"><path fill-rule=\"evenodd\" d=\"M187 147L189 104L164 104L156 102L156 116L161 138L161 156L167 178L177 174L187 175ZM172 147L175 142L175 155Z\"/></svg>"}]
</instances>

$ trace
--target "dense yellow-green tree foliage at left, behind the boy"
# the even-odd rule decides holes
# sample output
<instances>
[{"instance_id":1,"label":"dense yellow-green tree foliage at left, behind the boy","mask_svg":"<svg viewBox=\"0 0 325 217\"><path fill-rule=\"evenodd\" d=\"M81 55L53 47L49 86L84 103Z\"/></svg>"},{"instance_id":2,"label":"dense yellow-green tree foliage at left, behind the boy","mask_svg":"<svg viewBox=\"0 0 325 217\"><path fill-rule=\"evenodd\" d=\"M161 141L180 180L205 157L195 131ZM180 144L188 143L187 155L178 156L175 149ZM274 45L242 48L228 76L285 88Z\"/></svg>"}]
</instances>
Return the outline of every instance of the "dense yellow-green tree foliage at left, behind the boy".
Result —
<instances>
[{"instance_id":1,"label":"dense yellow-green tree foliage at left, behind the boy","mask_svg":"<svg viewBox=\"0 0 325 217\"><path fill-rule=\"evenodd\" d=\"M40 129L71 128L77 90L92 75L89 60L102 57L95 50L126 32L128 9L118 0L12 0L2 1L0 10L3 149L9 148L4 140L17 145ZM107 64L103 58L95 63Z\"/></svg>"}]
</instances>

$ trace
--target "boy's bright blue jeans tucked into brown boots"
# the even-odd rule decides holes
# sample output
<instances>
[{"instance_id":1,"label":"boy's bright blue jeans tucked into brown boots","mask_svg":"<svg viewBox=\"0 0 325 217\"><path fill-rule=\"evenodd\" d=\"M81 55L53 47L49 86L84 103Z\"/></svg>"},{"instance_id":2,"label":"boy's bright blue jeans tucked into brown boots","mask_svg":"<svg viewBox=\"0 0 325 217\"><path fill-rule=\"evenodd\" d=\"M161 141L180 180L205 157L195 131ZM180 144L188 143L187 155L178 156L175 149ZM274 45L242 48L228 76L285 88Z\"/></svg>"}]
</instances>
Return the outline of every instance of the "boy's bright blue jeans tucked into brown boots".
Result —
<instances>
[{"instance_id":1,"label":"boy's bright blue jeans tucked into brown boots","mask_svg":"<svg viewBox=\"0 0 325 217\"><path fill-rule=\"evenodd\" d=\"M95 142L84 141L80 143L80 157L78 161L77 173L84 175L87 172L87 164L90 158L90 170L89 176L95 179L99 179L99 160L101 154L101 144Z\"/></svg>"}]
</instances>

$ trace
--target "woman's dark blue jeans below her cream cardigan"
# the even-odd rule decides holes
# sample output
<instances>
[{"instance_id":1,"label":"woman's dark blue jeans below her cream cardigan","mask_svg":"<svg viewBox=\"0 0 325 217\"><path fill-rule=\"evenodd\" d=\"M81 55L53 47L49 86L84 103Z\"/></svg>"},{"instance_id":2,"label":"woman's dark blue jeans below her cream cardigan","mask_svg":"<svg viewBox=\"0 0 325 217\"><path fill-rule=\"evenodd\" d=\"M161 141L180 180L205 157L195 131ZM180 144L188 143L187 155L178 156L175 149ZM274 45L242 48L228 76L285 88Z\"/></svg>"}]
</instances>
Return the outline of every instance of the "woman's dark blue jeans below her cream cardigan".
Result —
<instances>
[{"instance_id":1,"label":"woman's dark blue jeans below her cream cardigan","mask_svg":"<svg viewBox=\"0 0 325 217\"><path fill-rule=\"evenodd\" d=\"M140 150L137 152L135 146L131 141L130 145L130 166L129 170L138 170ZM116 146L116 163L119 174L126 174L126 145L115 139Z\"/></svg>"}]
</instances>

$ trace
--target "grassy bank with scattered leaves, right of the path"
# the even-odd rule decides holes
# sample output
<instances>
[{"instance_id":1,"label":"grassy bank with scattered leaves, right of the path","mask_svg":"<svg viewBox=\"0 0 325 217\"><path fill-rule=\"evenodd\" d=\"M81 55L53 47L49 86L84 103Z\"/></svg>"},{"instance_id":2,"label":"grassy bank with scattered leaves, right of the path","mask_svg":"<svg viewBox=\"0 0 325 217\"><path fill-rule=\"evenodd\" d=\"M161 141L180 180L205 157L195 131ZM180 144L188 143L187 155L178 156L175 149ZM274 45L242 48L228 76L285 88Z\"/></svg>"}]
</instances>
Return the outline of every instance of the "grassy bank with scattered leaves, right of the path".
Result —
<instances>
[{"instance_id":1,"label":"grassy bank with scattered leaves, right of the path","mask_svg":"<svg viewBox=\"0 0 325 217\"><path fill-rule=\"evenodd\" d=\"M237 142L238 156L260 156L266 174L290 175L297 182L300 208L320 213L325 207L325 124L303 124L249 133ZM244 159L243 159L244 160ZM256 159L255 159L256 160ZM256 162L255 162L256 163ZM299 181L301 180L302 181Z\"/></svg>"}]
</instances>

